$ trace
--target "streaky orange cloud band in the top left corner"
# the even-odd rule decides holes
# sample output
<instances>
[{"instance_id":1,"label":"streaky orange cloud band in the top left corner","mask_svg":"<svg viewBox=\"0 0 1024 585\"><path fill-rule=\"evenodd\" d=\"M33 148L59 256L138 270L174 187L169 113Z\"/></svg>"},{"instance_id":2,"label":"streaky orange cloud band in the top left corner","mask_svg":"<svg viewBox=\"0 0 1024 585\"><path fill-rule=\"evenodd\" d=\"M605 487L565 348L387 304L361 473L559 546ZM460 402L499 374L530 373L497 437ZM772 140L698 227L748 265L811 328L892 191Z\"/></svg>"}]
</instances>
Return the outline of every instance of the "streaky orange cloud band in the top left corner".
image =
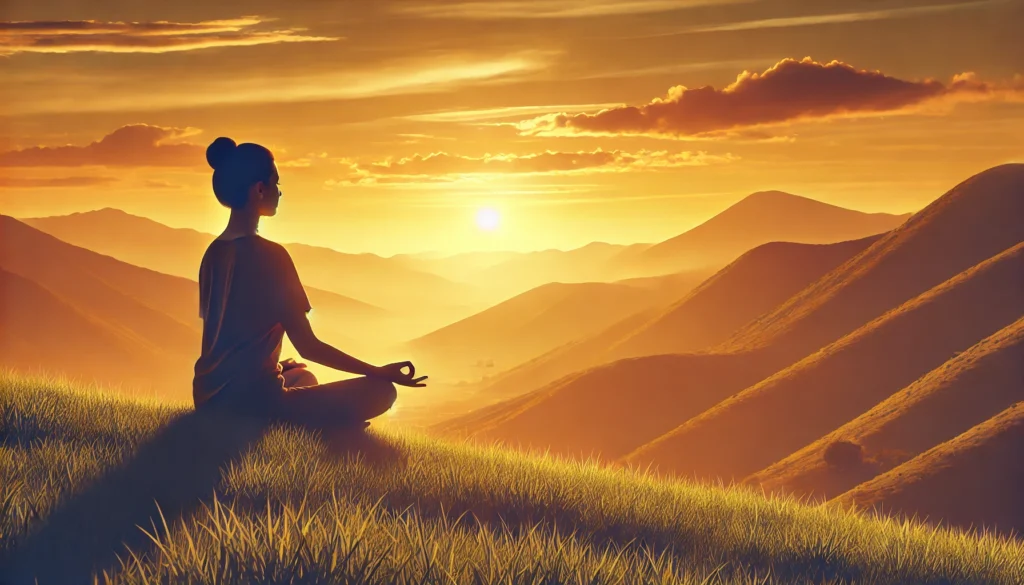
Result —
<instances>
[{"instance_id":1,"label":"streaky orange cloud band in the top left corner","mask_svg":"<svg viewBox=\"0 0 1024 585\"><path fill-rule=\"evenodd\" d=\"M305 29L261 31L254 27L273 18L243 16L199 23L14 20L0 22L0 55L19 52L81 51L164 53L211 47L337 41L340 37L300 34Z\"/></svg>"}]
</instances>

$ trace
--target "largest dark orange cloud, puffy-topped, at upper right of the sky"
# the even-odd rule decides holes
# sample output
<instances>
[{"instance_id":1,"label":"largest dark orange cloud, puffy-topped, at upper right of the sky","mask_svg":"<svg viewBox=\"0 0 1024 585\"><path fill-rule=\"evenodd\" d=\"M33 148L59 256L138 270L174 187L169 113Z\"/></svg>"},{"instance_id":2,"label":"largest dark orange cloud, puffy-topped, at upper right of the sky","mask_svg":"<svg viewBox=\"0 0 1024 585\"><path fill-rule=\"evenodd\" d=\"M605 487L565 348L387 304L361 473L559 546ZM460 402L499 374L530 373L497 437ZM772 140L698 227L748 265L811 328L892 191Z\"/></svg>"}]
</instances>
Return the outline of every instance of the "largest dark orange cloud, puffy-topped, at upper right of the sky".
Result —
<instances>
[{"instance_id":1,"label":"largest dark orange cloud, puffy-topped, at upper right of the sky","mask_svg":"<svg viewBox=\"0 0 1024 585\"><path fill-rule=\"evenodd\" d=\"M949 84L905 81L834 60L782 59L764 73L744 71L723 89L677 85L642 106L596 113L548 114L517 124L526 135L709 137L735 129L808 119L898 113L939 98L991 99L1019 95L1021 86L996 87L972 73Z\"/></svg>"}]
</instances>

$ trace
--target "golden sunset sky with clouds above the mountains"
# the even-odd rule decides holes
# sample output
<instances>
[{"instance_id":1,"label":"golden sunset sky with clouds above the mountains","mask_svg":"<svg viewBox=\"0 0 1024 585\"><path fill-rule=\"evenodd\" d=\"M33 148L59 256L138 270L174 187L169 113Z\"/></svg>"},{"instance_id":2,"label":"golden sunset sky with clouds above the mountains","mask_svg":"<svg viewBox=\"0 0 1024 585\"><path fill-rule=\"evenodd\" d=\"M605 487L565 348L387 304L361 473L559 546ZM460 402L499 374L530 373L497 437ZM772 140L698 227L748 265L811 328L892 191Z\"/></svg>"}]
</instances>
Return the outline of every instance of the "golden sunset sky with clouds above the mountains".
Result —
<instances>
[{"instance_id":1,"label":"golden sunset sky with clouds above the mountains","mask_svg":"<svg viewBox=\"0 0 1024 585\"><path fill-rule=\"evenodd\" d=\"M205 149L228 136L278 161L261 235L346 252L657 242L768 190L904 213L1024 161L1021 22L1024 0L9 0L0 212L217 234Z\"/></svg>"}]
</instances>

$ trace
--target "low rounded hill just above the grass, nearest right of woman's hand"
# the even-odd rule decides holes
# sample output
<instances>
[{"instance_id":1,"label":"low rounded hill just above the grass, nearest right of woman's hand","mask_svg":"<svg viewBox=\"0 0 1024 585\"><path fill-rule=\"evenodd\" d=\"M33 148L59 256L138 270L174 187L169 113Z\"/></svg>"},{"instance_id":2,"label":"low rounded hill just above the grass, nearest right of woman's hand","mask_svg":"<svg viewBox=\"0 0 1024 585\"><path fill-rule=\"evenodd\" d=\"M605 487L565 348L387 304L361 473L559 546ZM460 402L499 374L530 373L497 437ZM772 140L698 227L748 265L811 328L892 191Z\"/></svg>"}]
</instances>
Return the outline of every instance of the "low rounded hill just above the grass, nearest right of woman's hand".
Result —
<instances>
[{"instance_id":1,"label":"low rounded hill just above the grass, nearest right of woman's hand","mask_svg":"<svg viewBox=\"0 0 1024 585\"><path fill-rule=\"evenodd\" d=\"M612 460L770 373L748 354L620 360L446 421L435 430Z\"/></svg>"}]
</instances>

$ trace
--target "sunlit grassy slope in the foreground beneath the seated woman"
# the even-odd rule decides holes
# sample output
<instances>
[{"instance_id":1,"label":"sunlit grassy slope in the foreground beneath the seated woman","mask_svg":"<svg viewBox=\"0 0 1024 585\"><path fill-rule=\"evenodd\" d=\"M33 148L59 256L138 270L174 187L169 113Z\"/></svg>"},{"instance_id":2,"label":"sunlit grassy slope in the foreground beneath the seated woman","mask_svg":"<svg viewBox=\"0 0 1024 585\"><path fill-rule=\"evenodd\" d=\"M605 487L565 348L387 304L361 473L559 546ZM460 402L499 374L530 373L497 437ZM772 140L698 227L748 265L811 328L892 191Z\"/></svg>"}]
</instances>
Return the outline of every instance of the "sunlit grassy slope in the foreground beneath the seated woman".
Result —
<instances>
[{"instance_id":1,"label":"sunlit grassy slope in the foreground beneath the seated woman","mask_svg":"<svg viewBox=\"0 0 1024 585\"><path fill-rule=\"evenodd\" d=\"M0 583L1020 583L1024 543L0 373Z\"/></svg>"}]
</instances>

